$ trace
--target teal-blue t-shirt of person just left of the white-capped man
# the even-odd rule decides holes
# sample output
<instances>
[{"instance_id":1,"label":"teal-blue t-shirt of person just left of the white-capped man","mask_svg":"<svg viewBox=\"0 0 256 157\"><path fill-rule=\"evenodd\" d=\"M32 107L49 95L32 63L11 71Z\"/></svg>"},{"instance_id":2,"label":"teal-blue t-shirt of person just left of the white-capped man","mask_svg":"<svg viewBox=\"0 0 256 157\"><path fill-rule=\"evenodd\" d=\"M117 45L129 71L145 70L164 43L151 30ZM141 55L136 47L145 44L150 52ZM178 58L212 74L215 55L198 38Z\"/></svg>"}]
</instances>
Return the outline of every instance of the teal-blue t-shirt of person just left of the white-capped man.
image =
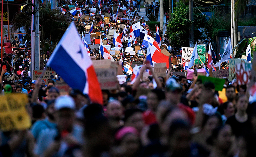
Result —
<instances>
[{"instance_id":1,"label":"teal-blue t-shirt of person just left of the white-capped man","mask_svg":"<svg viewBox=\"0 0 256 157\"><path fill-rule=\"evenodd\" d=\"M33 124L31 128L31 132L34 136L34 138L37 140L40 132L44 129L54 129L56 128L56 124L52 123L48 120L48 118L45 118L44 120L38 120L36 123Z\"/></svg>"}]
</instances>

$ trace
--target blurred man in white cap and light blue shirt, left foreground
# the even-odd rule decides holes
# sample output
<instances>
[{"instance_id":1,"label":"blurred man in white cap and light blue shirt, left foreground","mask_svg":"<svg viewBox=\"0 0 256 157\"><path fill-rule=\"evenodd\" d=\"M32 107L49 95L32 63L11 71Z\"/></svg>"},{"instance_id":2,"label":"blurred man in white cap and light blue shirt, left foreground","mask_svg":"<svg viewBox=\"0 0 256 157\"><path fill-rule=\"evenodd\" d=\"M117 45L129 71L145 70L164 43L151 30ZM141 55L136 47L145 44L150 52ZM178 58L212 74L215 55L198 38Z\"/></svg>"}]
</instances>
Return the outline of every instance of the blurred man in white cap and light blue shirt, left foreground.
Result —
<instances>
[{"instance_id":1,"label":"blurred man in white cap and light blue shirt, left foreground","mask_svg":"<svg viewBox=\"0 0 256 157\"><path fill-rule=\"evenodd\" d=\"M83 144L83 128L75 125L75 101L71 96L60 96L54 103L56 129L41 131L35 154L39 156L63 156L71 146Z\"/></svg>"}]
</instances>

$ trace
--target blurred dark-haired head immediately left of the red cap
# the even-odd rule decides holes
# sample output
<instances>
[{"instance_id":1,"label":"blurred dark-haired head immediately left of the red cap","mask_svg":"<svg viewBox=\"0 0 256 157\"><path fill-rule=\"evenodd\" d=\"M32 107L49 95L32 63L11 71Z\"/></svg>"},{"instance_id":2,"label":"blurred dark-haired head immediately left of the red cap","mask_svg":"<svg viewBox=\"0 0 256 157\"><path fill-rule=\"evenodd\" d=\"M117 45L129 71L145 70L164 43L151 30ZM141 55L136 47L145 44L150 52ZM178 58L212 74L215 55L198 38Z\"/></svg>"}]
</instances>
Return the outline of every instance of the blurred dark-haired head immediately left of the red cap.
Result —
<instances>
[{"instance_id":1,"label":"blurred dark-haired head immediately left of the red cap","mask_svg":"<svg viewBox=\"0 0 256 157\"><path fill-rule=\"evenodd\" d=\"M124 126L132 126L139 132L144 127L144 119L140 109L128 109L124 112Z\"/></svg>"}]
</instances>

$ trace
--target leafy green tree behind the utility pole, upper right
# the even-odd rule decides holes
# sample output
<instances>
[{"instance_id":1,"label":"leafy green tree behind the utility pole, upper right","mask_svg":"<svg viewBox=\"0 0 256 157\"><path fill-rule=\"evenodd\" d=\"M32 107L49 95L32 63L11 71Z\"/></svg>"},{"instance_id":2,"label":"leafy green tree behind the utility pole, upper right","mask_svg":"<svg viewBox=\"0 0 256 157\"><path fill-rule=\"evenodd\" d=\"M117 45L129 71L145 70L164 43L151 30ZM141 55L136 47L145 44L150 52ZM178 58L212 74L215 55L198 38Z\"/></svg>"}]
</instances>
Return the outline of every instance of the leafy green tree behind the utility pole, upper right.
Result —
<instances>
[{"instance_id":1,"label":"leafy green tree behind the utility pole, upper right","mask_svg":"<svg viewBox=\"0 0 256 157\"><path fill-rule=\"evenodd\" d=\"M197 8L194 9L194 21L190 21L188 6L180 1L178 8L173 8L171 17L167 25L167 33L172 44L178 47L189 45L189 28L192 23L194 23L195 41L204 37L204 32L199 29L204 28L207 22L204 15L202 15Z\"/></svg>"}]
</instances>

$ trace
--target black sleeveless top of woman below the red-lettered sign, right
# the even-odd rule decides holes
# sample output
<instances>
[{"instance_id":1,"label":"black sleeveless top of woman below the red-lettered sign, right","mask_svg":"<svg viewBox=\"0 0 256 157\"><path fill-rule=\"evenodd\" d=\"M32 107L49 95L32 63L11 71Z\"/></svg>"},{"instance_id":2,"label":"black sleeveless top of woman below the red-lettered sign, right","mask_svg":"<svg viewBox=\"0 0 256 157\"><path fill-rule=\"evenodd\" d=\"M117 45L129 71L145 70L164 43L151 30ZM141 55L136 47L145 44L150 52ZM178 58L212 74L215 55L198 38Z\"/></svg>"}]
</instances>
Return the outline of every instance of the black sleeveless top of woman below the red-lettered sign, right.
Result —
<instances>
[{"instance_id":1,"label":"black sleeveless top of woman below the red-lettered sign, right","mask_svg":"<svg viewBox=\"0 0 256 157\"><path fill-rule=\"evenodd\" d=\"M236 120L236 116L233 115L228 118L228 120L226 121L226 124L229 124L232 128L232 132L236 135L236 137L239 137L245 131L249 131L252 129L250 119L251 118L248 116L247 121L245 121L244 123L240 123Z\"/></svg>"}]
</instances>

